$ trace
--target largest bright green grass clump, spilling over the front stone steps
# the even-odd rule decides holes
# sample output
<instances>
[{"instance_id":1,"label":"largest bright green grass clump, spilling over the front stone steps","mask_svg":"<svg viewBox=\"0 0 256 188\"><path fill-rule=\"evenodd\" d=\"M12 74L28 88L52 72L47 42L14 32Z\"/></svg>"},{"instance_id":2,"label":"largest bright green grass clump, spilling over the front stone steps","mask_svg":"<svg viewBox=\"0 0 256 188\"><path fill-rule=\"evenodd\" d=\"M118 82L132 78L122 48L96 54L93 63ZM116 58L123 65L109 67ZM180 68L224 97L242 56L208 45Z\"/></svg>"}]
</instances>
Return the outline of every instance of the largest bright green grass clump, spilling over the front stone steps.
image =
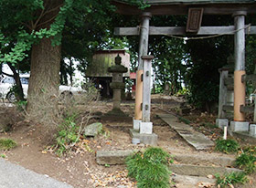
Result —
<instances>
[{"instance_id":1,"label":"largest bright green grass clump, spilling over the front stone steps","mask_svg":"<svg viewBox=\"0 0 256 188\"><path fill-rule=\"evenodd\" d=\"M170 155L161 148L148 148L127 158L128 175L137 181L138 188L170 187L168 170Z\"/></svg>"}]
</instances>

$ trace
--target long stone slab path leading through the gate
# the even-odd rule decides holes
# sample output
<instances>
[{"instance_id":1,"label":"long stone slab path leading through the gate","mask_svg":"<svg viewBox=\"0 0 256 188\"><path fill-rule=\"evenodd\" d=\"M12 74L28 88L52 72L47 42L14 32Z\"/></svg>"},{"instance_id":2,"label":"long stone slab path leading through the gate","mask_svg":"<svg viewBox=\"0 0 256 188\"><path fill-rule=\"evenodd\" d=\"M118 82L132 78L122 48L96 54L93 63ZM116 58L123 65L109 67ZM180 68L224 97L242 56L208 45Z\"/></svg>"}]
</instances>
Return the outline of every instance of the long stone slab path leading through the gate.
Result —
<instances>
[{"instance_id":1,"label":"long stone slab path leading through the gate","mask_svg":"<svg viewBox=\"0 0 256 188\"><path fill-rule=\"evenodd\" d=\"M214 146L214 142L210 141L204 134L195 131L191 126L185 123L177 122L176 116L167 113L157 113L156 115L164 120L185 139L185 141L196 148L196 150L208 150Z\"/></svg>"}]
</instances>

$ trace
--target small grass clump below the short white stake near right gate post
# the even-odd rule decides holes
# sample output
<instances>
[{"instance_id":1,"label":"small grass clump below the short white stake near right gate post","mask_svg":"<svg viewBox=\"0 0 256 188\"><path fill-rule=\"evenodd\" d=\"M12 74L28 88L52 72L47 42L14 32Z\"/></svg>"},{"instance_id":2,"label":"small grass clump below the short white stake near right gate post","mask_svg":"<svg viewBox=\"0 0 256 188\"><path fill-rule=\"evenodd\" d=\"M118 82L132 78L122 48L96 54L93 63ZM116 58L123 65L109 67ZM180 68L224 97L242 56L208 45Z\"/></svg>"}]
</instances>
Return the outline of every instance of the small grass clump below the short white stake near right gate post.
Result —
<instances>
[{"instance_id":1,"label":"small grass clump below the short white stake near right gate post","mask_svg":"<svg viewBox=\"0 0 256 188\"><path fill-rule=\"evenodd\" d=\"M237 152L239 150L239 143L232 139L222 140L219 139L216 141L215 150L225 153Z\"/></svg>"}]
</instances>

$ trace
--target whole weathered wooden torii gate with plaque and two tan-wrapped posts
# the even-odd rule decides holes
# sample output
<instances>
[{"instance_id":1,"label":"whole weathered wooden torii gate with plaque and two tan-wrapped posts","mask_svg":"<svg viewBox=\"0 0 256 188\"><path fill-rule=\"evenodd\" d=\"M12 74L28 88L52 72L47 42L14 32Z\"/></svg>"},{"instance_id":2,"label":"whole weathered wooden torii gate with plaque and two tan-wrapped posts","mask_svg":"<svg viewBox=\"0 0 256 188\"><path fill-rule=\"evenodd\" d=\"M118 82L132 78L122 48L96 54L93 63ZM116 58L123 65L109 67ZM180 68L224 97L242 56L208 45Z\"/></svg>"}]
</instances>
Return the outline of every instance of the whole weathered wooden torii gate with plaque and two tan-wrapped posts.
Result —
<instances>
[{"instance_id":1,"label":"whole weathered wooden torii gate with plaque and two tan-wrapped posts","mask_svg":"<svg viewBox=\"0 0 256 188\"><path fill-rule=\"evenodd\" d=\"M146 107L148 107L147 103L150 103L148 96L151 93L150 89L142 87L141 81L144 59L148 61L152 58L145 57L148 55L148 37L156 35L185 36L187 33L197 36L234 35L234 122L243 122L245 117L244 113L240 112L240 106L245 105L245 83L241 81L242 76L245 75L245 34L256 34L256 26L245 25L245 16L256 14L256 1L148 0L147 2L151 6L144 11L122 1L113 2L117 6L117 13L137 15L142 18L140 26L116 27L114 30L116 36L140 36L133 128L139 129L140 121L143 120L144 122L145 119L148 120L148 116L150 117L150 112L149 114L146 113L148 110ZM187 26L150 26L151 17L160 15L188 15ZM201 26L203 15L233 16L234 26ZM149 77L143 78L150 79ZM148 81L146 82L148 83ZM149 87L150 85L147 86L147 88ZM144 116L147 117L144 118ZM244 130L248 130L246 125L240 125L245 127Z\"/></svg>"}]
</instances>

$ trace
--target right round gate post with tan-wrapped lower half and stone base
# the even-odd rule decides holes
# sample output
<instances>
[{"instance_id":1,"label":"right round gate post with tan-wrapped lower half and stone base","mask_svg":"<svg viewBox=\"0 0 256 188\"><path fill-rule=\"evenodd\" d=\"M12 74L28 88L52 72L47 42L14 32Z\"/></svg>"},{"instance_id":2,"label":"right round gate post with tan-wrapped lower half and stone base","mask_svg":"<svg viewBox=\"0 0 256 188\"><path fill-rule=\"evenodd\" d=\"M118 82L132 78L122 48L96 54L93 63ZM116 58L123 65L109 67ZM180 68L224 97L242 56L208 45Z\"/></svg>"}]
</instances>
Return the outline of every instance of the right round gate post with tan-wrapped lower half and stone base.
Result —
<instances>
[{"instance_id":1,"label":"right round gate post with tan-wrapped lower half and stone base","mask_svg":"<svg viewBox=\"0 0 256 188\"><path fill-rule=\"evenodd\" d=\"M238 11L234 15L235 22L235 71L234 71L234 121L231 121L231 131L249 131L249 123L244 122L245 114L240 106L245 105L245 16L246 12Z\"/></svg>"}]
</instances>

